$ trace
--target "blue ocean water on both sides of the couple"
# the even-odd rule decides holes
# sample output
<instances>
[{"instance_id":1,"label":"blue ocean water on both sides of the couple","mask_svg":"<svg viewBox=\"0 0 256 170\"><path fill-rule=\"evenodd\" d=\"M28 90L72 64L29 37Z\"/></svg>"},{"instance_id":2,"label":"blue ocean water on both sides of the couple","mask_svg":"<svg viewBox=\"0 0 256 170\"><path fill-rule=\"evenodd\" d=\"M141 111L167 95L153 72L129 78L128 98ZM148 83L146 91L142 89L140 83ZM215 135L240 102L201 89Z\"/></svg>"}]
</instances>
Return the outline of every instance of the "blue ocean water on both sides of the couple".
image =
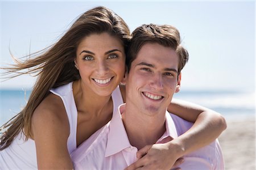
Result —
<instances>
[{"instance_id":1,"label":"blue ocean water on both sides of the couple","mask_svg":"<svg viewBox=\"0 0 256 170\"><path fill-rule=\"evenodd\" d=\"M15 116L30 96L26 90L0 90L0 126ZM174 98L203 105L221 113L226 120L255 116L255 92L241 91L180 91Z\"/></svg>"}]
</instances>

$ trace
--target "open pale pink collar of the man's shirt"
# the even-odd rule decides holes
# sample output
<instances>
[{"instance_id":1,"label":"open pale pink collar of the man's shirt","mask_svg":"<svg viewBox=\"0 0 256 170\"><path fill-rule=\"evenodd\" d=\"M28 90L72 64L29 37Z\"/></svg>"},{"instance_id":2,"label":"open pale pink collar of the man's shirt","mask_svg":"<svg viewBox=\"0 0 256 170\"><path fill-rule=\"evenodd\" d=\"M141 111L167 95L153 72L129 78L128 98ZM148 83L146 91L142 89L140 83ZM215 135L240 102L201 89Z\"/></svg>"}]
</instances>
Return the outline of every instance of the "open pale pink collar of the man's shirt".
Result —
<instances>
[{"instance_id":1,"label":"open pale pink collar of the man's shirt","mask_svg":"<svg viewBox=\"0 0 256 170\"><path fill-rule=\"evenodd\" d=\"M118 107L117 112L113 114L112 120L109 123L108 142L106 146L105 157L117 154L118 152L130 147L130 141L127 137L125 126L123 125L121 114L125 111L125 104ZM156 143L161 143L167 137L177 138L177 131L174 121L172 120L170 113L166 111L166 131L158 139Z\"/></svg>"}]
</instances>

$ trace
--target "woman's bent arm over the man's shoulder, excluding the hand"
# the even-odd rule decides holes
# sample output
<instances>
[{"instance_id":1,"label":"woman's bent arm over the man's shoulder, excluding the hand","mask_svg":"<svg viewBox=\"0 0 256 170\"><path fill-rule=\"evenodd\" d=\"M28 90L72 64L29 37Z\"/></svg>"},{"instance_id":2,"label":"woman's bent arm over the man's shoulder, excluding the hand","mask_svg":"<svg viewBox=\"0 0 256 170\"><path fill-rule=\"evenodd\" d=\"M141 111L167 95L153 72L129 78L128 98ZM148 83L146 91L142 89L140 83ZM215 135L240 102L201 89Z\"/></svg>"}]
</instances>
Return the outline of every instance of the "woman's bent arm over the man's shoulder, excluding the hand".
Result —
<instances>
[{"instance_id":1,"label":"woman's bent arm over the man's shoulder, excluding the hand","mask_svg":"<svg viewBox=\"0 0 256 170\"><path fill-rule=\"evenodd\" d=\"M200 105L173 99L167 110L184 120L194 122L191 129L179 137L182 141L180 144L185 142L184 154L209 145L226 129L225 118L220 113Z\"/></svg>"}]
</instances>

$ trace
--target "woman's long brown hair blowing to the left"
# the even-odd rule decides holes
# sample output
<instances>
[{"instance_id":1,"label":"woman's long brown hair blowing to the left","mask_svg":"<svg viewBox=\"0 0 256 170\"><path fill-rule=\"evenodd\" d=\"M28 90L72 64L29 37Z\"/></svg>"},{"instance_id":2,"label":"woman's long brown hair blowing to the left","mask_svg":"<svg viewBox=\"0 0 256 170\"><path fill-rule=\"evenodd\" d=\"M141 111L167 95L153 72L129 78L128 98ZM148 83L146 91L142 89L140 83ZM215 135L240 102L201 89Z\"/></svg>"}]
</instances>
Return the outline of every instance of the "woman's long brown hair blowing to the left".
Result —
<instances>
[{"instance_id":1,"label":"woman's long brown hair blowing to the left","mask_svg":"<svg viewBox=\"0 0 256 170\"><path fill-rule=\"evenodd\" d=\"M24 61L14 58L15 65L2 68L6 70L6 75L14 73L11 77L36 74L38 78L27 105L1 127L1 129L8 129L0 137L0 150L10 146L20 131L26 135L26 140L32 137L31 117L36 107L46 98L51 88L80 79L79 71L74 64L77 46L84 37L102 32L108 32L121 40L126 52L127 43L130 40L127 24L112 10L99 6L82 14L64 36L46 50L32 54L32 58L28 58L31 55L26 56L27 59Z\"/></svg>"}]
</instances>

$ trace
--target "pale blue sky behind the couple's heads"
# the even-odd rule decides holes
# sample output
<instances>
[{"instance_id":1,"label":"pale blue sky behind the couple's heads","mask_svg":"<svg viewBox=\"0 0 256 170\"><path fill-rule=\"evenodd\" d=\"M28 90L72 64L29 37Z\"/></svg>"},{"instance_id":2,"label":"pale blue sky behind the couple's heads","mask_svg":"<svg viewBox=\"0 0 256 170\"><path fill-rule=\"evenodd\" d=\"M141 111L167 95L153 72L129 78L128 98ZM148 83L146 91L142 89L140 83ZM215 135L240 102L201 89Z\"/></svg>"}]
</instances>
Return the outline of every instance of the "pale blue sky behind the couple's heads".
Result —
<instances>
[{"instance_id":1,"label":"pale blue sky behind the couple's heads","mask_svg":"<svg viewBox=\"0 0 256 170\"><path fill-rule=\"evenodd\" d=\"M254 1L1 1L1 66L13 63L9 49L22 57L46 48L99 5L115 11L131 31L148 23L179 29L190 57L181 90L254 91ZM20 76L0 88L30 88L34 81Z\"/></svg>"}]
</instances>

